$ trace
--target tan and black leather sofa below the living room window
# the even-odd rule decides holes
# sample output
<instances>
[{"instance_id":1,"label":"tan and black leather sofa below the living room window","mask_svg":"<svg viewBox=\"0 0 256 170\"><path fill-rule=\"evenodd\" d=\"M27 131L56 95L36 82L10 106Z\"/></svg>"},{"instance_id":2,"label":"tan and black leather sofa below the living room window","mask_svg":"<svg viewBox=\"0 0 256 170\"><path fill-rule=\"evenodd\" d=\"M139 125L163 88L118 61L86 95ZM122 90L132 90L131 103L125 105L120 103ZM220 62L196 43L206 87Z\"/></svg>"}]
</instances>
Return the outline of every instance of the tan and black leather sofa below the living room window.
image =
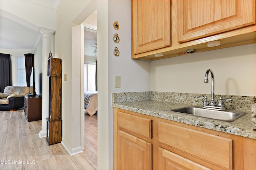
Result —
<instances>
[{"instance_id":1,"label":"tan and black leather sofa below the living room window","mask_svg":"<svg viewBox=\"0 0 256 170\"><path fill-rule=\"evenodd\" d=\"M29 87L6 86L0 93L0 110L14 111L24 107L24 96L30 93Z\"/></svg>"}]
</instances>

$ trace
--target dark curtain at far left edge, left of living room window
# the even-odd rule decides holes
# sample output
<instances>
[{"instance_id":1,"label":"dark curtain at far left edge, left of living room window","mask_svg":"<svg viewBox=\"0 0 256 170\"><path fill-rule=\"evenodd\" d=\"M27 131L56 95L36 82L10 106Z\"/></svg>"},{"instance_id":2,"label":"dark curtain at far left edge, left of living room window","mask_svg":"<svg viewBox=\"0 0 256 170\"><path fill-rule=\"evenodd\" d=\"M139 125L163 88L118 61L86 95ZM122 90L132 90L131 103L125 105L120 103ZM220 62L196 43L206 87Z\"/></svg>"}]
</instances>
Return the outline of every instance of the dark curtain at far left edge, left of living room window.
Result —
<instances>
[{"instance_id":1,"label":"dark curtain at far left edge, left of living room window","mask_svg":"<svg viewBox=\"0 0 256 170\"><path fill-rule=\"evenodd\" d=\"M4 92L6 86L12 86L11 55L0 53L0 92Z\"/></svg>"}]
</instances>

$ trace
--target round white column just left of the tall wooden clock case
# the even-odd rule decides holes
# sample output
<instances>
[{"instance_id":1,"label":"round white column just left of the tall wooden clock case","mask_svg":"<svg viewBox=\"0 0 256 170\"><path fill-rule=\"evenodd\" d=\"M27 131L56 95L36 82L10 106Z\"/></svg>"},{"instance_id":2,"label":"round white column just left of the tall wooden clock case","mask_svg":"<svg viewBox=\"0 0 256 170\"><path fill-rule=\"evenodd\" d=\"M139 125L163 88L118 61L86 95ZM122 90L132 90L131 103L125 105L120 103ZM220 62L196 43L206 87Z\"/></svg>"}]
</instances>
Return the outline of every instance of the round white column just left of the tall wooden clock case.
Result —
<instances>
[{"instance_id":1,"label":"round white column just left of the tall wooden clock case","mask_svg":"<svg viewBox=\"0 0 256 170\"><path fill-rule=\"evenodd\" d=\"M46 117L49 117L49 78L47 76L47 64L49 53L52 48L52 34L54 31L41 29L43 40L43 59L42 59L42 130L38 133L39 137L46 137Z\"/></svg>"}]
</instances>

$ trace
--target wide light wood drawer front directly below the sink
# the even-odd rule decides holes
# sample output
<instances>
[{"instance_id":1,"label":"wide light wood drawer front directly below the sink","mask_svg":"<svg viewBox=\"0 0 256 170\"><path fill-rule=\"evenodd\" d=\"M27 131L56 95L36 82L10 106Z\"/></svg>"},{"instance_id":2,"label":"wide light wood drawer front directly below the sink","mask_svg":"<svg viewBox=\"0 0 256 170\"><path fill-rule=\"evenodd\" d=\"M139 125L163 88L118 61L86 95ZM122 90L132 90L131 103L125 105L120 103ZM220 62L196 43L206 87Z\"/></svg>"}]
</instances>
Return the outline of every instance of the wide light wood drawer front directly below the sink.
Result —
<instances>
[{"instance_id":1,"label":"wide light wood drawer front directly below the sink","mask_svg":"<svg viewBox=\"0 0 256 170\"><path fill-rule=\"evenodd\" d=\"M232 169L232 139L159 122L158 141L218 166Z\"/></svg>"}]
</instances>

